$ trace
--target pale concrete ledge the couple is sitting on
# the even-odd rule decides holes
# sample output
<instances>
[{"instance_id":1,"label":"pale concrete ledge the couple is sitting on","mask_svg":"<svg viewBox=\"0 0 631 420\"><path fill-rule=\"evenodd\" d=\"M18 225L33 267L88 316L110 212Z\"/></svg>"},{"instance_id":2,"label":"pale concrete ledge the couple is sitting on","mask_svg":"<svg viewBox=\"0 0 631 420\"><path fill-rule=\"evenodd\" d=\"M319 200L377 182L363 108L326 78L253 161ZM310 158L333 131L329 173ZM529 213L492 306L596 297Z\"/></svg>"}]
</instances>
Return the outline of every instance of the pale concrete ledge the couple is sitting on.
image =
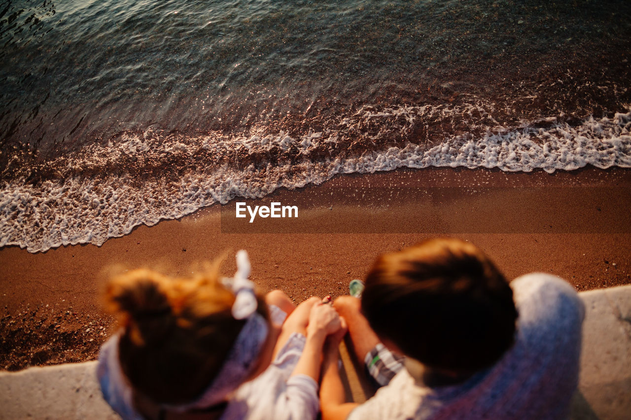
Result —
<instances>
[{"instance_id":1,"label":"pale concrete ledge the couple is sitting on","mask_svg":"<svg viewBox=\"0 0 631 420\"><path fill-rule=\"evenodd\" d=\"M573 419L631 413L631 285L579 294L585 303ZM0 419L118 419L101 397L96 362L0 372Z\"/></svg>"}]
</instances>

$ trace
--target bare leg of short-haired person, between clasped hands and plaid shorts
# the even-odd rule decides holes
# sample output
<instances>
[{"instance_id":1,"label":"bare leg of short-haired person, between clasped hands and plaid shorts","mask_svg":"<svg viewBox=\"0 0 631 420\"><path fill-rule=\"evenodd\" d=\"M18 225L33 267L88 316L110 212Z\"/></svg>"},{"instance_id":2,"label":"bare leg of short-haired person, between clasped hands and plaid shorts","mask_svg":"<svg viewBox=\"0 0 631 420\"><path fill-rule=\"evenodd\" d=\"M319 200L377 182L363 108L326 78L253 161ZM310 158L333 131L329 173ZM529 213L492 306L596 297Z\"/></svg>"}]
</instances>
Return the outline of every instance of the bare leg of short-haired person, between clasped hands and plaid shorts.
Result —
<instances>
[{"instance_id":1,"label":"bare leg of short-haired person, between clasped hands and plaid shorts","mask_svg":"<svg viewBox=\"0 0 631 420\"><path fill-rule=\"evenodd\" d=\"M361 301L353 296L340 296L333 302L333 307L346 320L355 356L362 363L366 354L377 346L380 340L362 315Z\"/></svg>"}]
</instances>

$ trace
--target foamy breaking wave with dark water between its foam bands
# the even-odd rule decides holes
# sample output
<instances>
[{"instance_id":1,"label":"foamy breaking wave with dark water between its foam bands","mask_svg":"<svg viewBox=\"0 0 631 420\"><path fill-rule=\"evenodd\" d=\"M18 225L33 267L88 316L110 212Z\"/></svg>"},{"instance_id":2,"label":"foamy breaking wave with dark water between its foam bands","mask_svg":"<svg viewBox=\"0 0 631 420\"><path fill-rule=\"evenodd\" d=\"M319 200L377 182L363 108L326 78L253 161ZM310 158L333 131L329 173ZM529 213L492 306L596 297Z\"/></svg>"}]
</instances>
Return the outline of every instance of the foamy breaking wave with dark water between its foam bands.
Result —
<instances>
[{"instance_id":1,"label":"foamy breaking wave with dark water between its foam bands","mask_svg":"<svg viewBox=\"0 0 631 420\"><path fill-rule=\"evenodd\" d=\"M466 131L459 129L463 122ZM452 134L440 139L437 127L445 124ZM420 144L379 141L395 132L427 138ZM347 146L344 153L340 144ZM341 173L429 166L552 173L586 165L631 167L631 110L611 118L560 115L500 127L478 105L364 107L322 131L295 137L260 129L243 136L124 133L50 162L54 177L3 181L0 247L43 252L77 243L100 246L134 226L235 197L321 184Z\"/></svg>"}]
</instances>

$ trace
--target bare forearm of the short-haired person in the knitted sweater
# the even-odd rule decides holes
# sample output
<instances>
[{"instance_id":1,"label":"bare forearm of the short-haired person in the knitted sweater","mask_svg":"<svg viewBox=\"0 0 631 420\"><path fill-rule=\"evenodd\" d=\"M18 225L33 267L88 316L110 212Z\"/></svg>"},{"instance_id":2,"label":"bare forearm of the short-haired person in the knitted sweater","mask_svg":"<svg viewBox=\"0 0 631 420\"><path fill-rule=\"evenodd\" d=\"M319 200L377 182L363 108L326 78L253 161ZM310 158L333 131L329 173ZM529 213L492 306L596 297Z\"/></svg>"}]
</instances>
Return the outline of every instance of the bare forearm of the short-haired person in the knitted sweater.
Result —
<instances>
[{"instance_id":1,"label":"bare forearm of the short-haired person in the knitted sweater","mask_svg":"<svg viewBox=\"0 0 631 420\"><path fill-rule=\"evenodd\" d=\"M344 420L357 405L354 402L346 402L344 399L344 385L339 376L339 342L344 336L341 333L334 334L327 339L324 348L324 362L322 369L322 384L320 385L320 407L322 420Z\"/></svg>"}]
</instances>

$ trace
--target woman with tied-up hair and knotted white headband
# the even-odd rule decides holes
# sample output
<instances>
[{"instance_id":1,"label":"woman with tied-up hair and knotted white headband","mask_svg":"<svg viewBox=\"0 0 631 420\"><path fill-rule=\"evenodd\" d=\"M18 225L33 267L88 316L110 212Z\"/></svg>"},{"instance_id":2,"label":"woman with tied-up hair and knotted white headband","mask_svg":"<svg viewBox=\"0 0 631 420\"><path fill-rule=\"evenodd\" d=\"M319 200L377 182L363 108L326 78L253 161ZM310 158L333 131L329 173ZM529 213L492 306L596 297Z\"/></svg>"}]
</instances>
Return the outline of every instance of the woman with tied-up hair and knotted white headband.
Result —
<instances>
[{"instance_id":1,"label":"woman with tied-up hair and knotted white headband","mask_svg":"<svg viewBox=\"0 0 631 420\"><path fill-rule=\"evenodd\" d=\"M105 300L121 329L103 344L97 375L123 419L314 419L322 347L341 329L319 298L294 307L247 279L171 279L140 269L112 278Z\"/></svg>"}]
</instances>

